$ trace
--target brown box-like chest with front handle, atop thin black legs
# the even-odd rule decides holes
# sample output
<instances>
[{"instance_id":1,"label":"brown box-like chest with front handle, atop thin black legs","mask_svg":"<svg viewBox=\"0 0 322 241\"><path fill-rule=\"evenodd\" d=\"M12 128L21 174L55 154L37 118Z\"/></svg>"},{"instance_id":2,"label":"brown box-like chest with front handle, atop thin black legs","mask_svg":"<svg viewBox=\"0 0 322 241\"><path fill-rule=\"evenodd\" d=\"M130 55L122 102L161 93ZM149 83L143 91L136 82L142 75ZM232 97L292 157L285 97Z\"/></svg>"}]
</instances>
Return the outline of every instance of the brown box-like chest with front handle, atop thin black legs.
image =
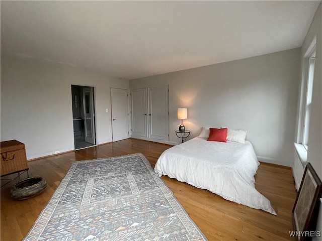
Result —
<instances>
[{"instance_id":1,"label":"brown box-like chest with front handle, atop thin black legs","mask_svg":"<svg viewBox=\"0 0 322 241\"><path fill-rule=\"evenodd\" d=\"M17 140L1 142L1 176L28 170L25 144Z\"/></svg>"}]
</instances>

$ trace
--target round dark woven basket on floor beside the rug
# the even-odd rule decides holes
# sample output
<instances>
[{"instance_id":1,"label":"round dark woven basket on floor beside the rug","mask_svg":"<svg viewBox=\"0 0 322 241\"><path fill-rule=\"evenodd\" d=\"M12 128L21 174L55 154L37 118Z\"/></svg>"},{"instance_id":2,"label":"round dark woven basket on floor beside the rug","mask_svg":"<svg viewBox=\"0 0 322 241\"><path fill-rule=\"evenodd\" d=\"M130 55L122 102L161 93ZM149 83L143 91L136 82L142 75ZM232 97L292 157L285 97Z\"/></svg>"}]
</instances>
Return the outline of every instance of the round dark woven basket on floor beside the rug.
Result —
<instances>
[{"instance_id":1,"label":"round dark woven basket on floor beside the rug","mask_svg":"<svg viewBox=\"0 0 322 241\"><path fill-rule=\"evenodd\" d=\"M42 177L28 177L14 185L11 196L16 200L25 200L39 195L46 186L47 182Z\"/></svg>"}]
</instances>

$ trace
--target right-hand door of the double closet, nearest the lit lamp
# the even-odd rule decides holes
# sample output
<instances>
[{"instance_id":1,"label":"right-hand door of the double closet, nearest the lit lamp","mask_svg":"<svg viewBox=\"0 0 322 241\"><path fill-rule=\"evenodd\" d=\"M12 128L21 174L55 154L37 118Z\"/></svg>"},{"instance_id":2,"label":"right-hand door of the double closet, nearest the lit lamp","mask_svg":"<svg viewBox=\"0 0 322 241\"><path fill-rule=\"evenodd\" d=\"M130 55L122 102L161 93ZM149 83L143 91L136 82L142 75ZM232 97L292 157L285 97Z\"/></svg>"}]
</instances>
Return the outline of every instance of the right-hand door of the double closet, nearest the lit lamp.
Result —
<instances>
[{"instance_id":1,"label":"right-hand door of the double closet, nearest the lit lamp","mask_svg":"<svg viewBox=\"0 0 322 241\"><path fill-rule=\"evenodd\" d=\"M169 87L148 88L149 138L169 141Z\"/></svg>"}]
</instances>

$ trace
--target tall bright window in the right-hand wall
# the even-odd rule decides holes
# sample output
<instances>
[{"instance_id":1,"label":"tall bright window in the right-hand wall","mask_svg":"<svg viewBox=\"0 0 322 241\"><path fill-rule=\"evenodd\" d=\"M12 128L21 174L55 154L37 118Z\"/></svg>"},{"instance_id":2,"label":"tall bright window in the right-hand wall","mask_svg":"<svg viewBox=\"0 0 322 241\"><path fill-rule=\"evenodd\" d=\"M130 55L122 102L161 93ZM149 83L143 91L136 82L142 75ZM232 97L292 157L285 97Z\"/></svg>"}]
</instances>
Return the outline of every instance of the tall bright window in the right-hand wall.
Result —
<instances>
[{"instance_id":1,"label":"tall bright window in the right-hand wall","mask_svg":"<svg viewBox=\"0 0 322 241\"><path fill-rule=\"evenodd\" d=\"M304 55L303 69L302 69L302 84L301 84L301 106L299 115L299 132L298 140L299 144L305 148L307 152L308 148L308 134L309 124L311 116L311 102L313 91L313 79L314 79L314 65L315 65L315 45L309 48L307 54Z\"/></svg>"}]
</instances>

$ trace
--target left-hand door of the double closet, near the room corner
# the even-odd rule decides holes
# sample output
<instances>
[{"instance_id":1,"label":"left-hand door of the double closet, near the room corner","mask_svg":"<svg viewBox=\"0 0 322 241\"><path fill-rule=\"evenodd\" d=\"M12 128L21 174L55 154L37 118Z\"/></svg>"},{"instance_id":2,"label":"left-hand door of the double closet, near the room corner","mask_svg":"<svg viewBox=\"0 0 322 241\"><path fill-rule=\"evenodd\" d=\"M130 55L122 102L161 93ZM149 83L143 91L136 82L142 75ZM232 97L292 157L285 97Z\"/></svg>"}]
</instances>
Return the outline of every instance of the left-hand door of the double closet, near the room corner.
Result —
<instances>
[{"instance_id":1,"label":"left-hand door of the double closet, near the room corner","mask_svg":"<svg viewBox=\"0 0 322 241\"><path fill-rule=\"evenodd\" d=\"M132 136L147 137L146 100L146 88L132 90Z\"/></svg>"}]
</instances>

